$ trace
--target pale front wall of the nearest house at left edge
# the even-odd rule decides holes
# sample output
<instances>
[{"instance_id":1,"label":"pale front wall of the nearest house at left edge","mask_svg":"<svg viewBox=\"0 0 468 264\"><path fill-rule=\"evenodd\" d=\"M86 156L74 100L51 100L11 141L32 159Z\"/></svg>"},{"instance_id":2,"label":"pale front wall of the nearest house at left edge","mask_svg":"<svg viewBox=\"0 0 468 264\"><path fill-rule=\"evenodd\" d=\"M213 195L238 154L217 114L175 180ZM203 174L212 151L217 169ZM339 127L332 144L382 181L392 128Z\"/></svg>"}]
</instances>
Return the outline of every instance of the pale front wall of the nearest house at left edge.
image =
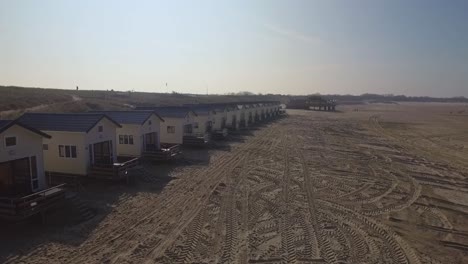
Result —
<instances>
[{"instance_id":1,"label":"pale front wall of the nearest house at left edge","mask_svg":"<svg viewBox=\"0 0 468 264\"><path fill-rule=\"evenodd\" d=\"M7 146L5 139L15 137L16 144L14 146ZM32 162L36 160L37 179L29 179L31 182L31 190L39 191L47 187L45 174L44 174L44 159L42 153L42 139L43 136L26 129L19 125L12 125L2 133L0 133L0 164L10 162L13 160L28 159L30 169L34 167ZM0 166L0 174L6 176L6 164ZM32 172L31 172L32 173ZM33 181L35 183L33 184Z\"/></svg>"}]
</instances>

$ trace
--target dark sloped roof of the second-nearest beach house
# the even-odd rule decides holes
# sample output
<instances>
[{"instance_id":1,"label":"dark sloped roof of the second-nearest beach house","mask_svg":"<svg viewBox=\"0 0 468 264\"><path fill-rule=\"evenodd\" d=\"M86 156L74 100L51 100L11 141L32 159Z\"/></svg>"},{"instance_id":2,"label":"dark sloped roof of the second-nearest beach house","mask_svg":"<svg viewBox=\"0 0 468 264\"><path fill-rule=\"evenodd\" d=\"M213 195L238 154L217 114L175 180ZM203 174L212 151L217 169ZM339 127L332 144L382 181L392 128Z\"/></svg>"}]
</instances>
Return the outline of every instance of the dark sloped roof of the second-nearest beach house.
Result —
<instances>
[{"instance_id":1,"label":"dark sloped roof of the second-nearest beach house","mask_svg":"<svg viewBox=\"0 0 468 264\"><path fill-rule=\"evenodd\" d=\"M88 132L103 118L120 127L115 120L100 113L25 113L18 121L44 131Z\"/></svg>"}]
</instances>

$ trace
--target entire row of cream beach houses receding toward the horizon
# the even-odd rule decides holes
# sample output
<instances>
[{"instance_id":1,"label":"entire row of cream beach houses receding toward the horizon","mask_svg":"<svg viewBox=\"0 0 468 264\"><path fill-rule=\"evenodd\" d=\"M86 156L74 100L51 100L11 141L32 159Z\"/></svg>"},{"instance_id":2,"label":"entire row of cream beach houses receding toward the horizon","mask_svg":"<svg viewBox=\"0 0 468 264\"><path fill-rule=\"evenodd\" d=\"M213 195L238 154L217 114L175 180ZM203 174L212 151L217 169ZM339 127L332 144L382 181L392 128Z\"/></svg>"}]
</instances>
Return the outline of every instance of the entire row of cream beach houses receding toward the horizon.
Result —
<instances>
[{"instance_id":1,"label":"entire row of cream beach houses receding toward the horizon","mask_svg":"<svg viewBox=\"0 0 468 264\"><path fill-rule=\"evenodd\" d=\"M276 101L136 107L130 111L25 113L0 120L0 218L43 213L70 179L119 180L140 159L170 160L280 114Z\"/></svg>"}]
</instances>

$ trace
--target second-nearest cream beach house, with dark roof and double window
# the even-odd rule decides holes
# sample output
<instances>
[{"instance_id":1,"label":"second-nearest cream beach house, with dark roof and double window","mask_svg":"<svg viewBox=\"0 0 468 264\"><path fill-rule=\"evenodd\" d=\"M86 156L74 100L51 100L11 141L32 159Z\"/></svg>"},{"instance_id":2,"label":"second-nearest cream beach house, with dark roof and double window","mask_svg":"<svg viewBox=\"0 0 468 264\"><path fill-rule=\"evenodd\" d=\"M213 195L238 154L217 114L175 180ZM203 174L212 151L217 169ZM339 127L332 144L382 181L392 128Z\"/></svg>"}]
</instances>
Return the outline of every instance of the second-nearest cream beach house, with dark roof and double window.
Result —
<instances>
[{"instance_id":1,"label":"second-nearest cream beach house, with dark roof and double window","mask_svg":"<svg viewBox=\"0 0 468 264\"><path fill-rule=\"evenodd\" d=\"M26 113L18 121L52 136L43 141L46 173L124 177L125 167L117 164L116 132L121 125L107 115Z\"/></svg>"}]
</instances>

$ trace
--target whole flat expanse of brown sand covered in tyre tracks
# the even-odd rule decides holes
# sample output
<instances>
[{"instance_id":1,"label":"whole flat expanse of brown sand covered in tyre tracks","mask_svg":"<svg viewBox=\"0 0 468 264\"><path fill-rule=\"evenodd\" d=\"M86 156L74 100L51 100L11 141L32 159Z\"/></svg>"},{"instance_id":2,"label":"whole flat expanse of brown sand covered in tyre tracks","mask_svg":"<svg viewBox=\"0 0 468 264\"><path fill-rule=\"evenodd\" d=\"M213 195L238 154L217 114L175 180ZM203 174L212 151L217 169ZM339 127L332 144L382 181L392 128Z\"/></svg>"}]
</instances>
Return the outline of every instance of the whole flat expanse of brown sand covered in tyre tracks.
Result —
<instances>
[{"instance_id":1,"label":"whole flat expanse of brown sand covered in tyre tracks","mask_svg":"<svg viewBox=\"0 0 468 264\"><path fill-rule=\"evenodd\" d=\"M2 236L0 262L468 263L468 106L340 110L87 187L94 218Z\"/></svg>"}]
</instances>

